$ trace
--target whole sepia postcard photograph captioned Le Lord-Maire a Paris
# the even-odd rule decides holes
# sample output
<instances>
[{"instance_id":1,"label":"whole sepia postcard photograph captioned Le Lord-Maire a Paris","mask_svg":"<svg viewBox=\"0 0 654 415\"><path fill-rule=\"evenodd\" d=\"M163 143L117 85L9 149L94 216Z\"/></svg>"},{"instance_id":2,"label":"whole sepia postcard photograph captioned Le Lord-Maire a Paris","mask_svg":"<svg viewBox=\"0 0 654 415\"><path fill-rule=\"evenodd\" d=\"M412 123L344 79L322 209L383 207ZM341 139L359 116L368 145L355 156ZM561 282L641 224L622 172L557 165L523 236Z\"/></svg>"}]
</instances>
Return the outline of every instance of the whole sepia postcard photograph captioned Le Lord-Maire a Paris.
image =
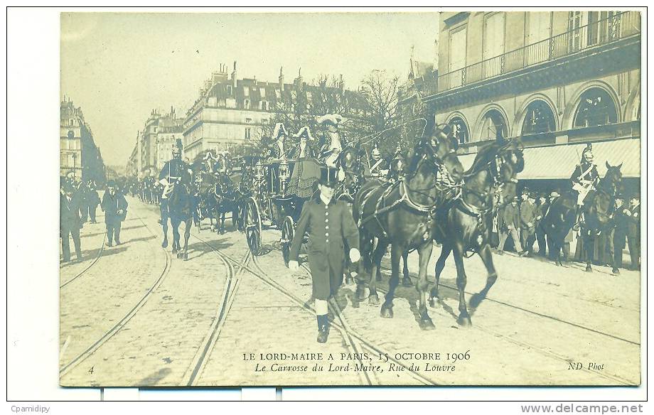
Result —
<instances>
[{"instance_id":1,"label":"whole sepia postcard photograph captioned Le Lord-Maire a Paris","mask_svg":"<svg viewBox=\"0 0 654 415\"><path fill-rule=\"evenodd\" d=\"M641 14L61 12L60 386L638 387Z\"/></svg>"}]
</instances>

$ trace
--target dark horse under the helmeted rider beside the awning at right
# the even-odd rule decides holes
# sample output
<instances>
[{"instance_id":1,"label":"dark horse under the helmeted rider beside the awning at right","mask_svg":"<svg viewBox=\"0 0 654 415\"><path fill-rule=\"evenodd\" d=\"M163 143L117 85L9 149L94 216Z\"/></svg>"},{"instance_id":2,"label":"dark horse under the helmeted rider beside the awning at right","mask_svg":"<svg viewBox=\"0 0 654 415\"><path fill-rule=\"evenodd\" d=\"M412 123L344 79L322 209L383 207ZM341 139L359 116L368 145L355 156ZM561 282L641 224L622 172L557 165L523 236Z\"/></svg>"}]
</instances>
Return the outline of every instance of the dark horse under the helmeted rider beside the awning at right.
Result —
<instances>
[{"instance_id":1,"label":"dark horse under the helmeted rider beside the awning at right","mask_svg":"<svg viewBox=\"0 0 654 415\"><path fill-rule=\"evenodd\" d=\"M582 240L584 252L581 258L586 259L586 271L592 271L591 262L594 257L595 237L599 234L601 228L609 221L609 215L615 205L616 190L619 188L622 173L619 166L611 166L606 163L606 175L599 181L597 190L591 190L584 205L581 207L584 213L584 221L581 223L579 232ZM547 234L547 244L550 248L550 259L562 266L561 249L564 239L575 220L575 209L577 205L577 195L570 191L564 193L560 198L554 200L550 208L542 219L542 227Z\"/></svg>"}]
</instances>

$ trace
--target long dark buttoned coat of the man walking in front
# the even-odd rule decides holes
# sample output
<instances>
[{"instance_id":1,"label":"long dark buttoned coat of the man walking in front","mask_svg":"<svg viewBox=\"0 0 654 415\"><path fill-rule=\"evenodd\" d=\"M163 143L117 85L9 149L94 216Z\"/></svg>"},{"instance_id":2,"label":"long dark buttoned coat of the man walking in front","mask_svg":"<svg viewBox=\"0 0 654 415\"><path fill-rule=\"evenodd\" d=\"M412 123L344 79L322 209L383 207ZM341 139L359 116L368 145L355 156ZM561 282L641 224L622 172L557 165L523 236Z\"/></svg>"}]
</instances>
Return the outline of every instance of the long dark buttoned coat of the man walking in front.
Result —
<instances>
[{"instance_id":1,"label":"long dark buttoned coat of the man walking in front","mask_svg":"<svg viewBox=\"0 0 654 415\"><path fill-rule=\"evenodd\" d=\"M319 195L302 207L302 215L291 244L290 260L297 261L304 233L309 233L307 251L313 280L313 298L327 300L343 283L345 251L359 248L359 230L345 202L325 205Z\"/></svg>"}]
</instances>

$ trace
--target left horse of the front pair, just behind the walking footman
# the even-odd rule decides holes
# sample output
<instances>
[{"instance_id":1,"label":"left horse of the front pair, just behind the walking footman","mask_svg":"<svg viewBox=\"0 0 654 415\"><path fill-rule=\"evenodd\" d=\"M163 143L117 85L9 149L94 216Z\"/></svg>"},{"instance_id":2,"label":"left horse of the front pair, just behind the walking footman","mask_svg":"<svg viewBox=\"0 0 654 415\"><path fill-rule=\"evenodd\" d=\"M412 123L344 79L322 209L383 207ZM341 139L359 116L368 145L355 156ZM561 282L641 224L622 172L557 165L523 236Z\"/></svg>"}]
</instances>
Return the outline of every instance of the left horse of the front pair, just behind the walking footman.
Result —
<instances>
[{"instance_id":1,"label":"left horse of the front pair, just behind the walking footman","mask_svg":"<svg viewBox=\"0 0 654 415\"><path fill-rule=\"evenodd\" d=\"M463 176L463 166L454 150L449 127L428 129L415 146L409 173L395 183L370 180L357 193L353 216L359 224L363 267L370 268L368 301L379 303L376 274L389 244L391 245L392 275L390 289L382 306L382 317L392 317L392 296L399 283L400 257L409 249L417 249L419 275L427 274L431 257L431 222L454 182ZM453 180L454 179L454 180ZM372 252L372 241L377 247ZM357 294L363 296L363 279L358 280Z\"/></svg>"}]
</instances>

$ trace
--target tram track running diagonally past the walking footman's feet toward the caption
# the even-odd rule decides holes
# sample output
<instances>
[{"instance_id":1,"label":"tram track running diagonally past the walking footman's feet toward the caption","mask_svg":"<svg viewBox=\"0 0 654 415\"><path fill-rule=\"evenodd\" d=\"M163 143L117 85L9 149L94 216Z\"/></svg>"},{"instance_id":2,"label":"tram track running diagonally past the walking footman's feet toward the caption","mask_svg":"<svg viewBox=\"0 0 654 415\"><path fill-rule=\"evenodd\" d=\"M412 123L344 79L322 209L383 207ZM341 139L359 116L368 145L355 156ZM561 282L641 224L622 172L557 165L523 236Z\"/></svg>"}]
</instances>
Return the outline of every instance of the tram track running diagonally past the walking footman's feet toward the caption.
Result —
<instances>
[{"instance_id":1,"label":"tram track running diagonally past the walking footman's feet toward the caption","mask_svg":"<svg viewBox=\"0 0 654 415\"><path fill-rule=\"evenodd\" d=\"M267 272L264 271L264 269L262 269L261 266L259 266L258 261L257 261L257 257L252 257L252 266L250 266L249 264L242 264L238 259L234 259L234 258L230 257L229 255L224 254L223 252L220 252L220 250L216 249L209 242L207 242L204 239L198 237L197 235L192 235L192 236L195 237L195 239L198 239L198 241L200 241L203 244L210 247L213 250L213 252L216 255L218 255L218 257L220 257L222 259L225 259L228 262L232 262L232 264L235 264L235 266L240 267L240 269L247 271L248 273L252 274L253 276L256 276L258 279L263 281L265 284L272 287L273 289L276 289L277 291L282 293L284 296L289 298L292 302L296 303L296 305L299 306L299 308L304 310L306 313L309 313L312 317L316 316L316 312L313 310L313 308L311 308L311 306L306 304L305 301L302 301L301 298L298 298L297 296L295 296L294 293L291 293L291 291L286 289L286 287L282 286L277 281L274 281L274 279L269 278L269 276L267 276ZM338 306L338 305L336 305L336 306ZM334 305L332 304L331 307L334 307ZM333 312L334 311L338 312L338 311L340 311L340 309L335 308L333 310ZM338 314L341 315L342 313L338 313ZM370 342L369 340L364 338L359 333L356 333L355 331L351 330L351 328L349 328L349 326L348 326L348 328L349 328L349 330L348 330L348 328L345 327L345 325L347 325L345 320L339 320L338 322L333 321L331 323L331 325L334 328L336 328L337 330L339 330L341 333L347 333L347 334L343 334L343 335L350 339L349 344L352 344L353 341L358 342L358 345L356 346L357 350L364 350L365 349L365 350L368 350L368 351L372 352L374 355L387 355L389 362L393 362L397 366L404 367L405 372L410 377L413 377L414 379L416 379L421 384L436 385L436 383L434 383L434 381L432 379L429 379L428 377L422 376L422 374L419 374L417 372L412 372L411 370L409 370L409 367L407 365L405 365L404 362L395 359L394 357L392 357L391 353L387 352L382 347L380 347L378 345L375 345L374 343ZM370 377L366 376L366 379L367 379L368 384L370 384L370 385L373 384L372 383L373 381L372 381L372 379L370 379Z\"/></svg>"}]
</instances>

